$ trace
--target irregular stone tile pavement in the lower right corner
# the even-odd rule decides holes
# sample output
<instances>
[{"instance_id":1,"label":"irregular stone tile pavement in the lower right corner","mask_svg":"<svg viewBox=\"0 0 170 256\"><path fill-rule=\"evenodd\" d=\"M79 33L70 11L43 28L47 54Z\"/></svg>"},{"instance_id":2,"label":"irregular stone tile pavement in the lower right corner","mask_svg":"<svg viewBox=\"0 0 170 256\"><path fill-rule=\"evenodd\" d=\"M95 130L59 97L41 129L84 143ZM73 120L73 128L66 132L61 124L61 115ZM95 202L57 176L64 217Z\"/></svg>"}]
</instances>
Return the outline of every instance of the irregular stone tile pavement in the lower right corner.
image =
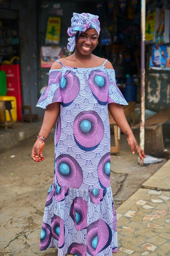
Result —
<instances>
[{"instance_id":1,"label":"irregular stone tile pavement in the lower right corner","mask_svg":"<svg viewBox=\"0 0 170 256\"><path fill-rule=\"evenodd\" d=\"M169 166L170 160L161 168L162 175L160 171L155 173L162 187L164 180L169 191L141 188L116 210L119 241L116 256L170 256L170 182L168 185L163 179ZM152 177L149 179L153 180Z\"/></svg>"}]
</instances>

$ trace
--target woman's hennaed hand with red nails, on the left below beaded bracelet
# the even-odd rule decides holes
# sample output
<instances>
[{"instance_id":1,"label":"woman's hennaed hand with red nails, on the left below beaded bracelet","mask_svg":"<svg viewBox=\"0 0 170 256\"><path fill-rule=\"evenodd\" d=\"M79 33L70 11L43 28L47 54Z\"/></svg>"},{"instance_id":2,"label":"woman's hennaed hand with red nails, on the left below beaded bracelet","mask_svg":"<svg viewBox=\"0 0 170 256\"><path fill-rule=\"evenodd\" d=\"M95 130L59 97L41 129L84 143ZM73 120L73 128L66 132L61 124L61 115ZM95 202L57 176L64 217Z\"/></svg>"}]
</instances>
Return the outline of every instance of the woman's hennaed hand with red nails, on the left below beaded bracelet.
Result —
<instances>
[{"instance_id":1,"label":"woman's hennaed hand with red nails, on the left below beaded bracelet","mask_svg":"<svg viewBox=\"0 0 170 256\"><path fill-rule=\"evenodd\" d=\"M31 154L31 158L35 162L41 162L44 160L45 157L43 157L43 155L42 155L44 146L45 146L44 141L42 139L37 138L37 140L33 146L32 154Z\"/></svg>"}]
</instances>

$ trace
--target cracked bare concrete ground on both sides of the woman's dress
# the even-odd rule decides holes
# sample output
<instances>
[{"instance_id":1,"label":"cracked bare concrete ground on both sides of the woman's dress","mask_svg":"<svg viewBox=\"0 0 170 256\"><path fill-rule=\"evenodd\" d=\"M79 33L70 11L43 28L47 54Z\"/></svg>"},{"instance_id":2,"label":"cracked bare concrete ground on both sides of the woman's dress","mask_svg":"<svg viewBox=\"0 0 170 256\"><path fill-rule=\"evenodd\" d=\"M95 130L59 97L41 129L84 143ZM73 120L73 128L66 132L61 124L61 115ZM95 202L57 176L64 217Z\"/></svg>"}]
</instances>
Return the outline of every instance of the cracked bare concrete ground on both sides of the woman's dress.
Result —
<instances>
[{"instance_id":1,"label":"cracked bare concrete ground on both sides of the woman's dress","mask_svg":"<svg viewBox=\"0 0 170 256\"><path fill-rule=\"evenodd\" d=\"M43 212L53 180L53 135L50 133L46 142L44 162L31 159L34 138L0 154L0 256L57 256L56 248L39 251ZM138 134L136 138L139 141ZM112 135L111 144L113 139ZM165 162L147 167L138 165L138 156L132 155L124 135L121 135L120 151L120 157L111 156L111 187L116 208ZM11 155L15 157L10 158Z\"/></svg>"}]
</instances>

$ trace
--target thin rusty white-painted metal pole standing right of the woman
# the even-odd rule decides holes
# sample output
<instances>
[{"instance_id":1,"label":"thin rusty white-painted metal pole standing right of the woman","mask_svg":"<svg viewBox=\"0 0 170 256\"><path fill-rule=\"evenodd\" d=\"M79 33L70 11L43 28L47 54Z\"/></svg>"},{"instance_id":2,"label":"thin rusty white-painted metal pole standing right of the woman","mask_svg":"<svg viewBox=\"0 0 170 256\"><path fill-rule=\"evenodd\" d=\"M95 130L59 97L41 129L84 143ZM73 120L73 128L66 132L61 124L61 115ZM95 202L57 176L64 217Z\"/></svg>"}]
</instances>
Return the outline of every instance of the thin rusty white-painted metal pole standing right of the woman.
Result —
<instances>
[{"instance_id":1,"label":"thin rusty white-painted metal pole standing right of the woman","mask_svg":"<svg viewBox=\"0 0 170 256\"><path fill-rule=\"evenodd\" d=\"M146 0L141 0L141 117L140 117L140 147L144 150L145 143L145 19ZM140 160L143 165L143 158Z\"/></svg>"}]
</instances>

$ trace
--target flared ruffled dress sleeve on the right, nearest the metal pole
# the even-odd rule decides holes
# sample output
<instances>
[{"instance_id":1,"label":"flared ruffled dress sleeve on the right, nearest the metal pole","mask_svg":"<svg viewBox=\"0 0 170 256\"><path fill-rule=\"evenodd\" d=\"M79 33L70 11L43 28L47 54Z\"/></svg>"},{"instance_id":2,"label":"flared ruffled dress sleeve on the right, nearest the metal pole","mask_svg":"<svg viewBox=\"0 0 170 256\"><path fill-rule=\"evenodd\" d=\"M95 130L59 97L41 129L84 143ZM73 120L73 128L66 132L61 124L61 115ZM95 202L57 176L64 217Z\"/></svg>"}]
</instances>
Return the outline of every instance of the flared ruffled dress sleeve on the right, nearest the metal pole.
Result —
<instances>
[{"instance_id":1,"label":"flared ruffled dress sleeve on the right, nearest the metal pole","mask_svg":"<svg viewBox=\"0 0 170 256\"><path fill-rule=\"evenodd\" d=\"M120 92L120 89L116 85L114 69L107 69L107 75L109 79L108 99L107 99L108 104L118 103L121 105L128 105L127 101L123 97L123 94Z\"/></svg>"}]
</instances>

